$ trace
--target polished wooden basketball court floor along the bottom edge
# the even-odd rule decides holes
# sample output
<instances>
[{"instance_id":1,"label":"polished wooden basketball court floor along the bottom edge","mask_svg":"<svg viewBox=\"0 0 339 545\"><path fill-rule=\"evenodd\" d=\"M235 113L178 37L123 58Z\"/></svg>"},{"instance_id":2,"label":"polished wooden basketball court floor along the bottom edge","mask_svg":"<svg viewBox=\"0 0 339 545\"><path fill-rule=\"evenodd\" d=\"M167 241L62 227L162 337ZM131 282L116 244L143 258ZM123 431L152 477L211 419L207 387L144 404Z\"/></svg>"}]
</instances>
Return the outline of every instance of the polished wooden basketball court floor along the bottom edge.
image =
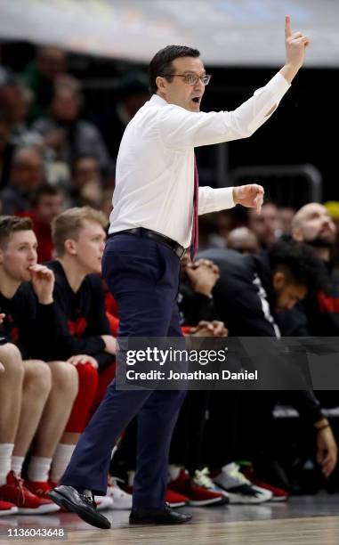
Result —
<instances>
[{"instance_id":1,"label":"polished wooden basketball court floor along the bottom edge","mask_svg":"<svg viewBox=\"0 0 339 545\"><path fill-rule=\"evenodd\" d=\"M339 495L291 498L287 503L259 506L182 508L189 524L178 526L128 525L127 511L106 511L111 530L98 530L70 513L0 518L0 545L28 542L93 545L339 545ZM38 529L63 530L60 537L20 537ZM12 536L12 537L11 537ZM17 537L16 537L17 536Z\"/></svg>"}]
</instances>

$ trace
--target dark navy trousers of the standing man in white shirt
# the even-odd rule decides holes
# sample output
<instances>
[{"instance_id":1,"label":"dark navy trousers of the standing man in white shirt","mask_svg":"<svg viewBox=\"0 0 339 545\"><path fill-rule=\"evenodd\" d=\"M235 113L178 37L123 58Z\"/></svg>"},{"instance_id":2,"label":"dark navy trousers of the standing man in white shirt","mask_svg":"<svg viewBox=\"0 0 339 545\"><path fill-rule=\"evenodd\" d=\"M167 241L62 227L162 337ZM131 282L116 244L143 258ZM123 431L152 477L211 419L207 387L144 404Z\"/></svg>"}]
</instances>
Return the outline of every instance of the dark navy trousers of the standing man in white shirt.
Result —
<instances>
[{"instance_id":1,"label":"dark navy trousers of the standing man in white shirt","mask_svg":"<svg viewBox=\"0 0 339 545\"><path fill-rule=\"evenodd\" d=\"M107 242L102 273L117 301L119 337L182 337L176 304L180 260L172 249L156 240L117 234ZM117 390L113 380L81 435L61 484L105 494L113 446L137 415L133 507L161 507L171 437L185 394Z\"/></svg>"}]
</instances>

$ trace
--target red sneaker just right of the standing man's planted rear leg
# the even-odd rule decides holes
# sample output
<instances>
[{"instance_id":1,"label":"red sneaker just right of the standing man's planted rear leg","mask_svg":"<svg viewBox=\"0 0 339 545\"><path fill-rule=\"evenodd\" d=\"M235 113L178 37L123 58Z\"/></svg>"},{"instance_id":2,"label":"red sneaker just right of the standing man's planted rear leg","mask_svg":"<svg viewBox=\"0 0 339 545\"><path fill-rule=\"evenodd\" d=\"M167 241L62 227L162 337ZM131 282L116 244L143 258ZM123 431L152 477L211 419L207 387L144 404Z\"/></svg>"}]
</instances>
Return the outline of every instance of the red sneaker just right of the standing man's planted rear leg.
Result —
<instances>
[{"instance_id":1,"label":"red sneaker just right of the standing man's planted rear leg","mask_svg":"<svg viewBox=\"0 0 339 545\"><path fill-rule=\"evenodd\" d=\"M189 498L189 505L224 505L228 503L228 499L222 492L214 492L195 484L185 469L182 469L179 476L168 484L168 488Z\"/></svg>"}]
</instances>

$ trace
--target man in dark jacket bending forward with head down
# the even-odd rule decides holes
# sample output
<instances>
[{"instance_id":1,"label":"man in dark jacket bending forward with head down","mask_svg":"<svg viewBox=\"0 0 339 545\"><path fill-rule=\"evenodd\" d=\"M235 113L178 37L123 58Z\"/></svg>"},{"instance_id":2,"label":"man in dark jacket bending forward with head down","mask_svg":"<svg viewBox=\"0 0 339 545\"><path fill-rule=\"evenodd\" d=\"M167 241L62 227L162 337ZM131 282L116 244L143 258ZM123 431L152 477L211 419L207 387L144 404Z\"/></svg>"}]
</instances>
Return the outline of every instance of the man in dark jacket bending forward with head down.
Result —
<instances>
[{"instance_id":1,"label":"man in dark jacket bending forward with head down","mask_svg":"<svg viewBox=\"0 0 339 545\"><path fill-rule=\"evenodd\" d=\"M230 338L280 338L279 314L293 309L324 280L321 262L304 244L278 241L258 256L241 256L234 250L219 248L205 250L200 256L213 260L220 268L221 276L214 287L214 304L229 329ZM262 453L266 455L271 450L271 411L278 399L293 405L310 432L315 430L319 467L326 477L333 472L337 461L335 437L311 388L278 393L239 391L238 394L238 404L246 420L247 445L250 445L255 474L259 477L251 476L252 482L267 479L261 460ZM222 391L215 391L211 396L208 427L209 468L214 470L214 483L227 489L229 478L223 464L229 457L230 441L228 435L220 433L225 397ZM275 487L270 490L275 494Z\"/></svg>"}]
</instances>

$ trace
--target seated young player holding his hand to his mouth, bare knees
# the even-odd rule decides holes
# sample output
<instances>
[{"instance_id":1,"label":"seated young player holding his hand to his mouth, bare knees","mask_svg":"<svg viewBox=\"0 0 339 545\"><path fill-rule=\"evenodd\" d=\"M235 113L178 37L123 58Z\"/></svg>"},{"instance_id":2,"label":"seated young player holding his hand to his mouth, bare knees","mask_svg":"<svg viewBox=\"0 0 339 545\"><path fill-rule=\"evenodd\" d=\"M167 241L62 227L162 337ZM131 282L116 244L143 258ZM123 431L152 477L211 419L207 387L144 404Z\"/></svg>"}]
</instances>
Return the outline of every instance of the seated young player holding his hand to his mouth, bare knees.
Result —
<instances>
[{"instance_id":1,"label":"seated young player holding his hand to his mouth, bare knees","mask_svg":"<svg viewBox=\"0 0 339 545\"><path fill-rule=\"evenodd\" d=\"M31 289L26 281L31 281ZM44 497L44 485L77 395L73 366L62 361L46 364L36 355L37 346L41 354L47 354L57 332L53 283L52 272L36 264L31 220L0 216L4 332L0 347L4 365L0 380L0 500L14 503L19 513L26 514L56 510ZM33 439L28 480L23 483L21 468Z\"/></svg>"}]
</instances>

